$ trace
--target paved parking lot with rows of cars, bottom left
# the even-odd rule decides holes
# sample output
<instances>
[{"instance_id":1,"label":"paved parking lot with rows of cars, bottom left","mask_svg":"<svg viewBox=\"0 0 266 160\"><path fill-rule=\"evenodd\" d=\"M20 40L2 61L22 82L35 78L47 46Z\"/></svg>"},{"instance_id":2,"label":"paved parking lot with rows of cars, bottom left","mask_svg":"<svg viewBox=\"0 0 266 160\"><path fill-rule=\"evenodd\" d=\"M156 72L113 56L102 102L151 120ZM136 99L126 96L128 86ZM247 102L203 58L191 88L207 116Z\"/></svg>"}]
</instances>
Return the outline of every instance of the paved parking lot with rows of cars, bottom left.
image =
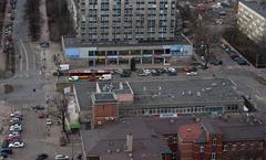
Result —
<instances>
[{"instance_id":1,"label":"paved parking lot with rows of cars, bottom left","mask_svg":"<svg viewBox=\"0 0 266 160\"><path fill-rule=\"evenodd\" d=\"M10 126L6 131L6 135L3 135L3 138L7 139L10 135L8 139L9 146L12 143L12 141L20 142L20 145L12 148L13 153L8 154L7 159L33 160L38 153L47 153L49 156L47 160L53 160L55 154L59 153L68 154L71 158L72 150L74 158L76 158L76 156L80 153L81 146L78 135L72 135L70 137L71 142L69 142L66 146L60 146L59 137L61 135L61 126L57 124L57 118L54 117L50 117L51 124L48 124L47 115L41 117L40 114L45 113L45 110L34 110L30 106L13 106L12 109L13 115L12 117L10 117L11 115L7 116L8 121L19 118L20 113L22 115L22 120L16 121L18 125L12 125L16 127L21 126L21 131L19 128L16 128L16 131L19 131L20 136L18 138L11 136L11 132L13 132L11 131L11 128L13 127ZM14 114L14 110L17 110L17 115ZM1 149L1 152L3 148Z\"/></svg>"}]
</instances>

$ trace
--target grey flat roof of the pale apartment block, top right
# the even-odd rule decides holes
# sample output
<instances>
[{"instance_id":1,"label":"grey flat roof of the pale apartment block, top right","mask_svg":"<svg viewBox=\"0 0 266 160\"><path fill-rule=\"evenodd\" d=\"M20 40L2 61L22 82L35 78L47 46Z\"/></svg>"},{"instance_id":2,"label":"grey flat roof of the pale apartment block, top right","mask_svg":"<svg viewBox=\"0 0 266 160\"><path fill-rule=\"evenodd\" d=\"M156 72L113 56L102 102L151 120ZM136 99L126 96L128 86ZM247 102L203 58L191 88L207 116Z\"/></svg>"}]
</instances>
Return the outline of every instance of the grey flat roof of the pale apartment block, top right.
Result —
<instances>
[{"instance_id":1,"label":"grey flat roof of the pale apartment block, top right","mask_svg":"<svg viewBox=\"0 0 266 160\"><path fill-rule=\"evenodd\" d=\"M266 18L266 3L259 3L257 0L241 0L243 4L250 8L253 11L257 12L262 17Z\"/></svg>"}]
</instances>

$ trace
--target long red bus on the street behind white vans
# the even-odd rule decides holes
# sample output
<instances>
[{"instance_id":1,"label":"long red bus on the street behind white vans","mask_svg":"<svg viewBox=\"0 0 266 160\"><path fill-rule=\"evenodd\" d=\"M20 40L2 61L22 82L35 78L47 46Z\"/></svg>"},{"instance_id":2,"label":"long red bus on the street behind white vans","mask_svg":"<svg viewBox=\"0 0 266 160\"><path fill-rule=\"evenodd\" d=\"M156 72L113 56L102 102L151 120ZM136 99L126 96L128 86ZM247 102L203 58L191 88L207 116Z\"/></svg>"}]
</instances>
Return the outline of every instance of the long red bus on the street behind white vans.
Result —
<instances>
[{"instance_id":1,"label":"long red bus on the street behind white vans","mask_svg":"<svg viewBox=\"0 0 266 160\"><path fill-rule=\"evenodd\" d=\"M95 79L105 74L112 74L109 70L83 70L83 71L69 71L69 76L78 76L79 79Z\"/></svg>"}]
</instances>

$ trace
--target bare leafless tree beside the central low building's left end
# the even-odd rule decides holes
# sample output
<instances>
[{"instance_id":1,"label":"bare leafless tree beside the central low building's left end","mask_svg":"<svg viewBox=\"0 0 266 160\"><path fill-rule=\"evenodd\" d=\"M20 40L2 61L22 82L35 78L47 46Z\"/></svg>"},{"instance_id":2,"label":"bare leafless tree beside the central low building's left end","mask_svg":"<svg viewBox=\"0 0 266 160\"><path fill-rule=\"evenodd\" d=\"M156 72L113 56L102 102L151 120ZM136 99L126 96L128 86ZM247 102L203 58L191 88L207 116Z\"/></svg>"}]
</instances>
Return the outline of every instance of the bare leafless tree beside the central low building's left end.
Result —
<instances>
[{"instance_id":1,"label":"bare leafless tree beside the central low building's left end","mask_svg":"<svg viewBox=\"0 0 266 160\"><path fill-rule=\"evenodd\" d=\"M51 108L50 114L58 117L61 120L62 124L62 130L63 132L65 132L65 117L66 117L66 113L68 113L68 104L69 104L69 99L66 96L64 95L60 95L58 97L54 97L52 99L49 100L49 106Z\"/></svg>"}]
</instances>

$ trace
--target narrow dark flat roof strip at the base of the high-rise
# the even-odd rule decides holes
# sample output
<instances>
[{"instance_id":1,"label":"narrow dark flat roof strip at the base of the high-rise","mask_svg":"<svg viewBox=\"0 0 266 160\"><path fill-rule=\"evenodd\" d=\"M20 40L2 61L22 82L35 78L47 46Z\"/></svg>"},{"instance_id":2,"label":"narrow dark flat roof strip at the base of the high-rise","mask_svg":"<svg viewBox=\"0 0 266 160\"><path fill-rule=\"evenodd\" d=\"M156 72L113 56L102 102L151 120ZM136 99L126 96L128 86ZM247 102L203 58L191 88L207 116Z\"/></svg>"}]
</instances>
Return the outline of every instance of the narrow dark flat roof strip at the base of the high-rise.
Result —
<instances>
[{"instance_id":1,"label":"narrow dark flat roof strip at the base of the high-rise","mask_svg":"<svg viewBox=\"0 0 266 160\"><path fill-rule=\"evenodd\" d=\"M137 43L130 43L130 42L82 42L80 39L74 36L64 36L63 43L65 47L110 47L110 46L156 46L156 45L173 45L173 44L190 44L187 40L183 36L178 36L176 40L172 41L163 41L163 42L137 42Z\"/></svg>"}]
</instances>

